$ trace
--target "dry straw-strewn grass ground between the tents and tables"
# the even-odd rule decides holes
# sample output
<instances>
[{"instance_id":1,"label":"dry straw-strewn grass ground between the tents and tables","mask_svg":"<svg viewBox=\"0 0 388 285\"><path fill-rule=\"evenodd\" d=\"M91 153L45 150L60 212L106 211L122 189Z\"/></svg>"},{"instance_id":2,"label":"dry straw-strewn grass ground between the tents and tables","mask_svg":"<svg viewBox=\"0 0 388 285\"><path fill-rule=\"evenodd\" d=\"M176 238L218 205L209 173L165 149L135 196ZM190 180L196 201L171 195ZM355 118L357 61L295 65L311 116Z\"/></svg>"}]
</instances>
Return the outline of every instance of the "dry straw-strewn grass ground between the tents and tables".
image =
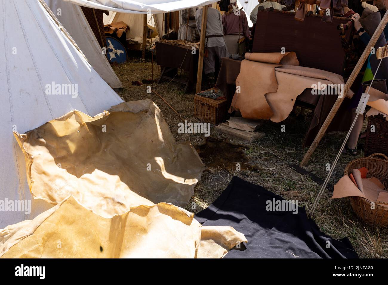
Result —
<instances>
[{"instance_id":1,"label":"dry straw-strewn grass ground between the tents and tables","mask_svg":"<svg viewBox=\"0 0 388 285\"><path fill-rule=\"evenodd\" d=\"M202 140L203 135L201 134L178 134L178 123L181 122L181 119L177 114L156 94L147 93L147 85L132 85L132 81L151 78L151 62L129 59L123 65L113 65L113 69L123 83L124 87L119 90L118 94L124 100L151 98L161 109L163 117L178 143L189 140L191 143L196 144ZM158 78L159 74L160 69L154 64L154 79ZM174 82L154 83L153 89L163 96L185 120L197 121L193 116L194 93L185 94L182 85ZM186 209L199 212L206 208L227 187L233 175L251 183L259 184L274 193L282 195L285 199L298 200L300 206L310 207L320 190L320 185L315 184L306 176L302 176L289 167L291 163L299 164L307 151L301 145L309 123L309 119L301 121L293 117L288 117L282 123L268 121L260 129L265 132L265 137L262 140L250 144L232 140L232 142L245 145L247 156L258 164L262 170L258 172L238 171L234 174L224 170L216 173L204 172ZM286 125L285 132L280 131L281 124ZM218 138L225 137L218 133L213 126L211 127L211 135ZM327 134L321 140L305 169L324 180L327 175L326 164L333 163L345 135L344 132ZM359 156L362 155L362 153L359 154ZM341 155L329 183L334 185L343 176L346 164L353 159L355 157L350 155ZM299 195L295 197L291 195L289 190L298 190ZM330 193L325 191L314 213L315 222L319 228L333 238L348 237L359 257L388 257L387 227L365 225L353 215L349 199L331 200L330 197ZM192 202L196 203L196 209L191 208Z\"/></svg>"}]
</instances>

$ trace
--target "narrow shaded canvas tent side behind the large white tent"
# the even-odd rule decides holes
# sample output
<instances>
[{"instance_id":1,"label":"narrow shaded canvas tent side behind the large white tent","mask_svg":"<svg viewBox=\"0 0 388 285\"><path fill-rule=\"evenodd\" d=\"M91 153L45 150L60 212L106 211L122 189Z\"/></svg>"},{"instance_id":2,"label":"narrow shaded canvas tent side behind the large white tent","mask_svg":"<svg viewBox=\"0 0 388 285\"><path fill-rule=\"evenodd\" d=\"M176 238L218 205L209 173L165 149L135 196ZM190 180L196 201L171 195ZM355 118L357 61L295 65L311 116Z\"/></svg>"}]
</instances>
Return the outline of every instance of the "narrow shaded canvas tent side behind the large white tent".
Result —
<instances>
[{"instance_id":1,"label":"narrow shaded canvas tent side behind the large white tent","mask_svg":"<svg viewBox=\"0 0 388 285\"><path fill-rule=\"evenodd\" d=\"M120 79L114 73L106 56L95 38L80 6L62 0L45 0L58 21L71 35L95 71L111 88L121 87Z\"/></svg>"}]
</instances>

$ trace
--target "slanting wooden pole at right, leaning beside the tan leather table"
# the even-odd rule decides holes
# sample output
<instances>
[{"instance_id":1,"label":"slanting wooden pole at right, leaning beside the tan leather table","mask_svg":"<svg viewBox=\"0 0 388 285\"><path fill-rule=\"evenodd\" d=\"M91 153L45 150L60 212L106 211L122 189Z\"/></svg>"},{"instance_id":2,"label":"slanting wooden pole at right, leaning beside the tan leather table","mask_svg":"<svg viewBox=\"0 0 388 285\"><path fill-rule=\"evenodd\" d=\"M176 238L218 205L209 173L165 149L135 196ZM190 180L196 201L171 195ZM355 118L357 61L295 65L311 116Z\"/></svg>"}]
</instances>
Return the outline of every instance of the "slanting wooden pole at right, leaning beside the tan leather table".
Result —
<instances>
[{"instance_id":1,"label":"slanting wooden pole at right, leaning beside the tan leather table","mask_svg":"<svg viewBox=\"0 0 388 285\"><path fill-rule=\"evenodd\" d=\"M325 122L323 123L317 136L315 137L314 142L310 145L310 148L307 150L305 156L303 157L302 162L300 163L300 166L305 166L307 164L307 162L310 159L311 155L313 154L315 148L318 146L320 140L322 139L322 137L326 133L326 130L329 127L331 121L333 120L334 115L336 114L336 112L338 111L338 108L340 108L340 105L342 104L343 100L345 99L346 93L348 93L348 91L350 90L350 86L352 86L354 80L356 79L357 75L359 74L362 66L364 65L365 60L369 57L369 54L371 53L371 48L374 47L374 45L376 44L376 41L378 40L379 36L383 32L387 22L388 22L388 15L386 13L384 15L383 19L381 19L379 26L377 27L371 40L369 41L364 52L362 53L359 61L357 62L356 66L354 67L352 74L350 74L348 81L346 81L345 87L343 88L343 96L341 98L340 97L337 98L336 102L333 105L333 108L331 108L329 115L327 115Z\"/></svg>"}]
</instances>

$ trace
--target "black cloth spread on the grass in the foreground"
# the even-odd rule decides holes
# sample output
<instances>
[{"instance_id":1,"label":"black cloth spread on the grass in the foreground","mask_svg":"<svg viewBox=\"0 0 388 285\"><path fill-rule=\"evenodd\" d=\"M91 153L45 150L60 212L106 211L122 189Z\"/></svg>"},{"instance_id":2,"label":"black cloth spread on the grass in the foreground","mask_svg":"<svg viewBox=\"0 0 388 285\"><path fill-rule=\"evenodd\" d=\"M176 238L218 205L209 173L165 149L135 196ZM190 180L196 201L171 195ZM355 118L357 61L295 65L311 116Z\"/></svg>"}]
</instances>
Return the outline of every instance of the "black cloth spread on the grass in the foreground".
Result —
<instances>
[{"instance_id":1,"label":"black cloth spread on the grass in the foreground","mask_svg":"<svg viewBox=\"0 0 388 285\"><path fill-rule=\"evenodd\" d=\"M220 197L194 218L203 226L232 226L247 237L247 244L234 247L224 258L357 258L348 238L322 233L305 208L299 207L297 214L267 211L267 201L273 199L284 200L234 176Z\"/></svg>"}]
</instances>

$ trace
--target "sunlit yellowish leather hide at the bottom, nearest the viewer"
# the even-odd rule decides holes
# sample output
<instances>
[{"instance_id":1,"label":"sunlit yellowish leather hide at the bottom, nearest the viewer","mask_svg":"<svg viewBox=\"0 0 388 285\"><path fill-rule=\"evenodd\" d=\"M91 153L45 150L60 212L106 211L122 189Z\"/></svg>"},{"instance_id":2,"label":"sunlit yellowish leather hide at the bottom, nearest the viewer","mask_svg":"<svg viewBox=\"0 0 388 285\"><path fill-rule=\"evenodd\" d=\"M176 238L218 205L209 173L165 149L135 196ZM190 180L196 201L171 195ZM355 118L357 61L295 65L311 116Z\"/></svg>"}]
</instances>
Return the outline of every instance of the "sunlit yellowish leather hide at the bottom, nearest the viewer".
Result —
<instances>
[{"instance_id":1,"label":"sunlit yellowish leather hide at the bottom, nearest the viewer","mask_svg":"<svg viewBox=\"0 0 388 285\"><path fill-rule=\"evenodd\" d=\"M0 257L221 258L246 242L231 227L201 226L192 213L167 203L103 218L69 196L23 223L0 244Z\"/></svg>"}]
</instances>

